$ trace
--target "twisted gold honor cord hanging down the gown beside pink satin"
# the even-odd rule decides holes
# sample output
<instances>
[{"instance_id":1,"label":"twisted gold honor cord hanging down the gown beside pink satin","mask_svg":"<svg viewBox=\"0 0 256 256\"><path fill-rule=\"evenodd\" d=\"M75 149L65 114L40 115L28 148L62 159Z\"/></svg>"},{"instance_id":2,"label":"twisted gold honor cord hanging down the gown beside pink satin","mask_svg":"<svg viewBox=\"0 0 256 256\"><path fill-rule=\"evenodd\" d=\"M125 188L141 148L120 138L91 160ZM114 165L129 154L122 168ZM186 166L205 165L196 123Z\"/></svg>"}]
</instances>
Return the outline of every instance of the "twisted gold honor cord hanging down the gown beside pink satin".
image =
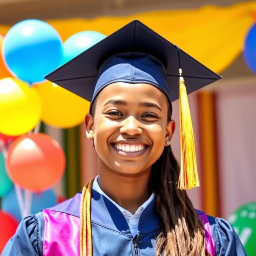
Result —
<instances>
[{"instance_id":1,"label":"twisted gold honor cord hanging down the gown beside pink satin","mask_svg":"<svg viewBox=\"0 0 256 256\"><path fill-rule=\"evenodd\" d=\"M92 229L91 229L91 179L86 183L82 190L80 202L80 232L79 232L79 251L80 256L92 256Z\"/></svg>"}]
</instances>

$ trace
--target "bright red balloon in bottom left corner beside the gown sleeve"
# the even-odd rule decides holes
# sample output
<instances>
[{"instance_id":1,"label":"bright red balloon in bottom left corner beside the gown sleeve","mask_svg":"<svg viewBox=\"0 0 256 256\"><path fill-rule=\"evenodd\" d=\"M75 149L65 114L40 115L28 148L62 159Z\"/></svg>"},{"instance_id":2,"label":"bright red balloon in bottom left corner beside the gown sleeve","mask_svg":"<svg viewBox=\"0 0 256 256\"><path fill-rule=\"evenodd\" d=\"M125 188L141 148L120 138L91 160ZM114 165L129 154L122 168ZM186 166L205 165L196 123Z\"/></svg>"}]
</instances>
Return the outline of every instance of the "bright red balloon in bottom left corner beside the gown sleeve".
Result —
<instances>
[{"instance_id":1,"label":"bright red balloon in bottom left corner beside the gown sleeve","mask_svg":"<svg viewBox=\"0 0 256 256\"><path fill-rule=\"evenodd\" d=\"M18 222L6 212L0 210L0 254L8 240L15 234Z\"/></svg>"}]
</instances>

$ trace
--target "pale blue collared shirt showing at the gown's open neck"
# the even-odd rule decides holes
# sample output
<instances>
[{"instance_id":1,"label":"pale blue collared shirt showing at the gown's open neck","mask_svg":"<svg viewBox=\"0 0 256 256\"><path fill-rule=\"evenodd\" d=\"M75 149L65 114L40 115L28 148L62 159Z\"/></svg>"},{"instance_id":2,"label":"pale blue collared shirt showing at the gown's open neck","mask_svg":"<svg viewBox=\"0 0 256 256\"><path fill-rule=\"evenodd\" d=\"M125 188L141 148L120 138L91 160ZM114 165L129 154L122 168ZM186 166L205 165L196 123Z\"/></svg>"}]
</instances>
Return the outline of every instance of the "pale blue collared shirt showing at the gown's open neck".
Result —
<instances>
[{"instance_id":1,"label":"pale blue collared shirt showing at the gown's open neck","mask_svg":"<svg viewBox=\"0 0 256 256\"><path fill-rule=\"evenodd\" d=\"M99 176L99 175L98 175ZM98 183L98 176L95 177L93 184L92 184L92 189L96 190L98 193L100 193L101 195L103 195L104 197L108 198L124 215L128 226L130 228L130 231L132 233L132 236L135 237L136 234L138 233L138 223L139 223L139 219L140 216L143 212L143 210L150 204L150 202L154 199L155 195L152 193L150 198L147 199L146 202L144 202L144 204L142 204L138 210L135 212L135 214L131 214L131 212L125 210L123 207L121 207L120 205L118 205L115 201L113 201L111 198L109 198L100 188L99 183Z\"/></svg>"}]
</instances>

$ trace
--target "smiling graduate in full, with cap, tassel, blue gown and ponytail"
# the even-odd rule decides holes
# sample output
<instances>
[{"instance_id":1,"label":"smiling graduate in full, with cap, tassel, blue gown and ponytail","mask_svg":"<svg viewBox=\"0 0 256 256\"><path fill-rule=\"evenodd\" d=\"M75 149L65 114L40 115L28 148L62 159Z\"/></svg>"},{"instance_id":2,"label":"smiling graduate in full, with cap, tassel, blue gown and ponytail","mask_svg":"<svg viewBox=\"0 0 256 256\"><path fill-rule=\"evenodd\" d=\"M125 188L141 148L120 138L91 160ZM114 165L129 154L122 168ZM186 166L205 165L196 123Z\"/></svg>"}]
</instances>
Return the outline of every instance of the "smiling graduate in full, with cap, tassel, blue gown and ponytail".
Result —
<instances>
[{"instance_id":1,"label":"smiling graduate in full, with cap, tassel, blue gown and ponytail","mask_svg":"<svg viewBox=\"0 0 256 256\"><path fill-rule=\"evenodd\" d=\"M220 78L134 20L46 76L91 101L99 175L26 217L2 255L246 255L232 226L187 196L199 180L181 61L189 92ZM170 147L177 98L180 166Z\"/></svg>"}]
</instances>

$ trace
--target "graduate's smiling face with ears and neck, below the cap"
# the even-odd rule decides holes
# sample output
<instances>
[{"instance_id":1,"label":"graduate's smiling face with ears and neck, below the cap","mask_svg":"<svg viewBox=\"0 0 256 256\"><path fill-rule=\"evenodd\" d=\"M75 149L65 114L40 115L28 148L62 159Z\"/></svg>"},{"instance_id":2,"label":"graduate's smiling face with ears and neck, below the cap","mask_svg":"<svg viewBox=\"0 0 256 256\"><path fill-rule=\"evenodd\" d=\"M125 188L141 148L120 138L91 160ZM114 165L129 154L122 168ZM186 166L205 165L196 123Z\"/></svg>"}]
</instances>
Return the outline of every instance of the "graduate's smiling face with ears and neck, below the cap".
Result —
<instances>
[{"instance_id":1,"label":"graduate's smiling face with ears and neck, below the cap","mask_svg":"<svg viewBox=\"0 0 256 256\"><path fill-rule=\"evenodd\" d=\"M174 132L168 109L164 93L150 84L116 82L101 91L85 118L99 155L99 185L133 214L150 197L151 166Z\"/></svg>"}]
</instances>

